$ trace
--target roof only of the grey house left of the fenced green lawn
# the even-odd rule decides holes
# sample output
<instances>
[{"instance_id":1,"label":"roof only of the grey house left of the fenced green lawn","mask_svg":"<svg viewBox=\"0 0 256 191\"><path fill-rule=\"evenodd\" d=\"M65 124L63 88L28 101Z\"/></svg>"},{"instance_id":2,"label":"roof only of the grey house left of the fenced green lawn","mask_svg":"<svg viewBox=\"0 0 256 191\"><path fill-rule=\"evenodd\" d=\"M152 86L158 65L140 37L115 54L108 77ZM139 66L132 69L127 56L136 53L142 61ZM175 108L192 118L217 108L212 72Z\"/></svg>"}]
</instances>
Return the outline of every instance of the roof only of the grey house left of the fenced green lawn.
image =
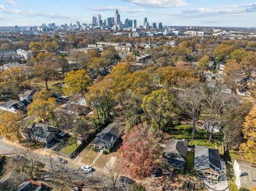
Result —
<instances>
[{"instance_id":1,"label":"roof only of the grey house left of the fenced green lawn","mask_svg":"<svg viewBox=\"0 0 256 191\"><path fill-rule=\"evenodd\" d=\"M46 138L51 134L57 134L58 128L49 126L49 124L45 123L34 123L28 132L29 135L33 135L36 137Z\"/></svg>"}]
</instances>

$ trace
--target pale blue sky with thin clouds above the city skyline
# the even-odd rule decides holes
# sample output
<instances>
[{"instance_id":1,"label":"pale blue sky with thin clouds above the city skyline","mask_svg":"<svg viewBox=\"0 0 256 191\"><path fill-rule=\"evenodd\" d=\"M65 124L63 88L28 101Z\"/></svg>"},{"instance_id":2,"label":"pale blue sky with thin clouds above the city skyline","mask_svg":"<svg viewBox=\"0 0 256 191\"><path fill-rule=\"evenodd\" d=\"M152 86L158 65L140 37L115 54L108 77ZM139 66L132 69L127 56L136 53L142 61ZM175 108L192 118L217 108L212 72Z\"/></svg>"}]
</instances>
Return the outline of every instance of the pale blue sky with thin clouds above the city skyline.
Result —
<instances>
[{"instance_id":1,"label":"pale blue sky with thin clouds above the city skyline","mask_svg":"<svg viewBox=\"0 0 256 191\"><path fill-rule=\"evenodd\" d=\"M90 23L114 15L173 26L256 27L256 0L0 0L0 26Z\"/></svg>"}]
</instances>

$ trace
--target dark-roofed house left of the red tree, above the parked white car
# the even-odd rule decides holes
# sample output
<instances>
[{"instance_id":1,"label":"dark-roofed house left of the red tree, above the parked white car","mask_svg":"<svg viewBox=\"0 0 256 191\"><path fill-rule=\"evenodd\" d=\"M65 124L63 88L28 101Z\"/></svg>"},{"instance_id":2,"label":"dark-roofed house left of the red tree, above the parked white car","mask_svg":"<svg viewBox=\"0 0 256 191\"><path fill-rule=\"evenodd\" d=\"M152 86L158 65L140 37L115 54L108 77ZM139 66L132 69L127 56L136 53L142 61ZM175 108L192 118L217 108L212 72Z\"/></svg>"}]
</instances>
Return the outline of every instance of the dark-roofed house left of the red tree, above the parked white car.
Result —
<instances>
[{"instance_id":1,"label":"dark-roofed house left of the red tree, above the parked white car","mask_svg":"<svg viewBox=\"0 0 256 191\"><path fill-rule=\"evenodd\" d=\"M117 139L122 135L122 127L119 123L110 123L94 138L93 147L98 147L99 150L113 148Z\"/></svg>"}]
</instances>

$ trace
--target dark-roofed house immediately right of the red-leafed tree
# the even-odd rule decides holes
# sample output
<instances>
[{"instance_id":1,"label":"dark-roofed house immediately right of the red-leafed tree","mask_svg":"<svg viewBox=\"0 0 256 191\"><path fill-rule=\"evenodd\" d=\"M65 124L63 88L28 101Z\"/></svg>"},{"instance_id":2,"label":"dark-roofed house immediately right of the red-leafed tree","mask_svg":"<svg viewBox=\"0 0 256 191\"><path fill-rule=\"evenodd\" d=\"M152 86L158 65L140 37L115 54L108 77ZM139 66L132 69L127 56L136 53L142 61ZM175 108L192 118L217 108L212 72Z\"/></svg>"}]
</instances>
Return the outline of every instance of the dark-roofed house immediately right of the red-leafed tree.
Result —
<instances>
[{"instance_id":1,"label":"dark-roofed house immediately right of the red-leafed tree","mask_svg":"<svg viewBox=\"0 0 256 191\"><path fill-rule=\"evenodd\" d=\"M186 139L168 140L162 161L164 165L183 170L187 159L188 141Z\"/></svg>"}]
</instances>

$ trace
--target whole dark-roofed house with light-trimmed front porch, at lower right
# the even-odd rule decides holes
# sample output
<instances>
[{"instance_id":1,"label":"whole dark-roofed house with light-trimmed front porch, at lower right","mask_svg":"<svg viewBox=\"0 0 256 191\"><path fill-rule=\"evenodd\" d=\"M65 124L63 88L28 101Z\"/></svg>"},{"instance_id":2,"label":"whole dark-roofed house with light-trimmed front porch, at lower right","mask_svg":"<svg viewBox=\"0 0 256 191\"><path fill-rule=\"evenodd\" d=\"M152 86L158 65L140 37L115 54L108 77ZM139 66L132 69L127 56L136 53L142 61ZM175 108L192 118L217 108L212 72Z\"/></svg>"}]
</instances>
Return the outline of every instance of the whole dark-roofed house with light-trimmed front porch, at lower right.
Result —
<instances>
[{"instance_id":1,"label":"whole dark-roofed house with light-trimmed front porch, at lower right","mask_svg":"<svg viewBox=\"0 0 256 191\"><path fill-rule=\"evenodd\" d=\"M194 165L204 178L218 181L221 175L219 150L196 145Z\"/></svg>"}]
</instances>

